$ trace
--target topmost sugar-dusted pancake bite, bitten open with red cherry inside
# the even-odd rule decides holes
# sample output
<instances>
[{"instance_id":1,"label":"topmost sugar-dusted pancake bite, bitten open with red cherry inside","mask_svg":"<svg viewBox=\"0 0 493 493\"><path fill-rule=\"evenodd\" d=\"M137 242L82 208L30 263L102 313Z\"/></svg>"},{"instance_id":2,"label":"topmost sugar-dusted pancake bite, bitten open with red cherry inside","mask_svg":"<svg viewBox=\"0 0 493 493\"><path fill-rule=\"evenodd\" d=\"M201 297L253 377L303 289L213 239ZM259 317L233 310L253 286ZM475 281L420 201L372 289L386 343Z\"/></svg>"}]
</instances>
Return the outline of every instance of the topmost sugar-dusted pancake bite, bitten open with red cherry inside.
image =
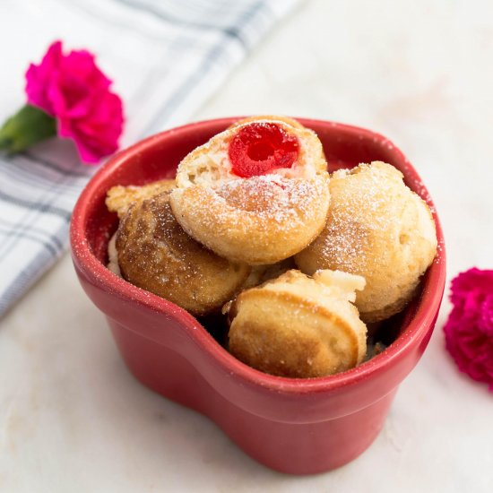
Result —
<instances>
[{"instance_id":1,"label":"topmost sugar-dusted pancake bite, bitten open with red cherry inside","mask_svg":"<svg viewBox=\"0 0 493 493\"><path fill-rule=\"evenodd\" d=\"M240 120L177 169L170 197L177 221L231 260L279 262L324 228L330 195L322 144L298 122L276 118Z\"/></svg>"}]
</instances>

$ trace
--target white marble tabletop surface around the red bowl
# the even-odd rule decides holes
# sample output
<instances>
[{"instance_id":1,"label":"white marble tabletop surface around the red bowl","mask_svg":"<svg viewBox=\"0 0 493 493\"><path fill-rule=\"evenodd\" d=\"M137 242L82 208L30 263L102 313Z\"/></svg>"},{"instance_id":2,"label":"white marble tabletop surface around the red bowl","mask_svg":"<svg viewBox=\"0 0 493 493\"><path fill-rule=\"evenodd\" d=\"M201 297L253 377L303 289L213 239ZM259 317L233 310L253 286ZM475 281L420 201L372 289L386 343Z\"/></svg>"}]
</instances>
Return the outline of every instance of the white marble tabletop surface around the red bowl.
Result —
<instances>
[{"instance_id":1,"label":"white marble tabletop surface around the red bowl","mask_svg":"<svg viewBox=\"0 0 493 493\"><path fill-rule=\"evenodd\" d=\"M493 265L493 4L313 0L196 119L284 113L368 126L405 151L443 221L449 278ZM68 255L0 323L0 491L493 491L493 394L441 326L366 454L290 477L126 371Z\"/></svg>"}]
</instances>

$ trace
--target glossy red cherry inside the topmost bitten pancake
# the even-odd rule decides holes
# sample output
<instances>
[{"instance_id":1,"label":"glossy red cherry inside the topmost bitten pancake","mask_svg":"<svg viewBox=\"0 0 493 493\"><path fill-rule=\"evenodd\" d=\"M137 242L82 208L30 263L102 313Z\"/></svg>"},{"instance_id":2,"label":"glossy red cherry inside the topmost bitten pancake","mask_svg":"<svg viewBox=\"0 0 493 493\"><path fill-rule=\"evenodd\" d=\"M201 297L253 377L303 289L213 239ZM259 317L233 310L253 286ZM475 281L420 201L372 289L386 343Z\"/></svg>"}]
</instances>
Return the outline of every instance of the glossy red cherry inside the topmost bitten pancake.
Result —
<instances>
[{"instance_id":1,"label":"glossy red cherry inside the topmost bitten pancake","mask_svg":"<svg viewBox=\"0 0 493 493\"><path fill-rule=\"evenodd\" d=\"M233 173L244 178L265 175L272 169L291 168L298 152L298 139L272 123L242 127L229 143L228 151Z\"/></svg>"}]
</instances>

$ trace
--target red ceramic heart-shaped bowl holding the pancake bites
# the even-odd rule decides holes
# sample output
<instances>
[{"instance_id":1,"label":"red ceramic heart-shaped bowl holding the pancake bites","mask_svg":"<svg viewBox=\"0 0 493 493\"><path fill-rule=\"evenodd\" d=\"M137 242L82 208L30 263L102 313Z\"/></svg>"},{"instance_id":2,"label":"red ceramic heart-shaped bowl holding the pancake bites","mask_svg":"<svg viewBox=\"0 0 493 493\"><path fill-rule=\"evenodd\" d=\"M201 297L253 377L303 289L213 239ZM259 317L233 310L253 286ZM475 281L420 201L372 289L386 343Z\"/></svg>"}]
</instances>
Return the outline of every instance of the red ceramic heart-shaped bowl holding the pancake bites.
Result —
<instances>
[{"instance_id":1,"label":"red ceramic heart-shaped bowl holding the pancake bites","mask_svg":"<svg viewBox=\"0 0 493 493\"><path fill-rule=\"evenodd\" d=\"M202 412L247 454L272 469L296 474L328 471L357 457L376 438L398 385L428 344L445 283L442 230L434 212L437 259L383 353L358 368L314 379L270 376L247 367L185 310L105 267L108 238L117 228L116 214L104 203L108 188L173 177L187 152L236 119L181 126L108 160L74 209L75 270L87 295L107 316L126 365L143 385ZM416 171L385 137L349 125L300 121L320 137L331 169L371 160L389 162L435 211Z\"/></svg>"}]
</instances>

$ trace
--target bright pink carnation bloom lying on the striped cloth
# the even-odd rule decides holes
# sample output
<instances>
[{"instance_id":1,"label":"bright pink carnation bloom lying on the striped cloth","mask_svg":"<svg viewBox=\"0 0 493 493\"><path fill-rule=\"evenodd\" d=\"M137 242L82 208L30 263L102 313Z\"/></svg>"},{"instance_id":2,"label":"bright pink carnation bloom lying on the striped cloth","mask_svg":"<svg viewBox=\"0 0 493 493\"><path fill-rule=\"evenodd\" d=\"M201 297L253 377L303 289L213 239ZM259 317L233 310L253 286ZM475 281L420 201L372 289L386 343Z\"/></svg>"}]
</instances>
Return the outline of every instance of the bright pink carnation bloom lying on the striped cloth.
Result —
<instances>
[{"instance_id":1,"label":"bright pink carnation bloom lying on the striped cloth","mask_svg":"<svg viewBox=\"0 0 493 493\"><path fill-rule=\"evenodd\" d=\"M55 41L39 65L26 73L30 105L56 118L57 133L74 140L85 162L98 162L118 149L123 129L121 99L86 50L62 52Z\"/></svg>"}]
</instances>

